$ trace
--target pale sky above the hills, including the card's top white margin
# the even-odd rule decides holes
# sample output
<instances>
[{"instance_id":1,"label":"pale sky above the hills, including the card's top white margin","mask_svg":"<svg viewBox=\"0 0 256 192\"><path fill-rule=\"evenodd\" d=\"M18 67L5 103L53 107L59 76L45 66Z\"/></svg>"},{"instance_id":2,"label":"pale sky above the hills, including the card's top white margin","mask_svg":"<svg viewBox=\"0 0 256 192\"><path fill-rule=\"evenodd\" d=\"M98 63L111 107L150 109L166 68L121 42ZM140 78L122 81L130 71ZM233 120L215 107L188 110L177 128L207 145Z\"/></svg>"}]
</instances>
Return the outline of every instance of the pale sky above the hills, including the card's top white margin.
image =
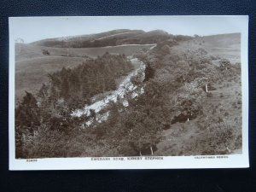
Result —
<instances>
[{"instance_id":1,"label":"pale sky above the hills, including the card's top white margin","mask_svg":"<svg viewBox=\"0 0 256 192\"><path fill-rule=\"evenodd\" d=\"M12 17L9 32L25 43L113 29L160 29L174 35L206 36L241 32L246 20L247 16Z\"/></svg>"}]
</instances>

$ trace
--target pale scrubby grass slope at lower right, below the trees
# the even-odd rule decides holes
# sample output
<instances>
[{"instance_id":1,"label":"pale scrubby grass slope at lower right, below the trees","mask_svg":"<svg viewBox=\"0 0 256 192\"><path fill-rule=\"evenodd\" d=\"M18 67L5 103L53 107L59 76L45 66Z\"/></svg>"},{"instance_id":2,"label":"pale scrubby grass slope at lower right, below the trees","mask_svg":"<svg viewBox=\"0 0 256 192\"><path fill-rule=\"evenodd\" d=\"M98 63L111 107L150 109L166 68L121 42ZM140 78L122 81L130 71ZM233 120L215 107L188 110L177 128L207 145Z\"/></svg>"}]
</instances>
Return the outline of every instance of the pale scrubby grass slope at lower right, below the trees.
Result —
<instances>
[{"instance_id":1,"label":"pale scrubby grass slope at lower right, below the trees","mask_svg":"<svg viewBox=\"0 0 256 192\"><path fill-rule=\"evenodd\" d=\"M211 90L212 97L204 99L203 115L185 123L176 123L171 129L163 131L164 139L158 143L155 155L196 155L201 154L204 148L195 147L195 140L201 134L205 134L208 127L207 119L212 117L222 117L225 122L236 122L241 127L241 86L239 79L226 79L221 84L213 84L217 90ZM221 96L223 95L223 96ZM233 105L236 103L236 107ZM216 112L215 112L216 110ZM235 129L236 127L234 127ZM238 130L239 131L239 130ZM236 142L236 141L234 141ZM230 148L234 143L230 143ZM231 150L230 153L235 153ZM241 148L236 149L236 153L241 153Z\"/></svg>"}]
</instances>

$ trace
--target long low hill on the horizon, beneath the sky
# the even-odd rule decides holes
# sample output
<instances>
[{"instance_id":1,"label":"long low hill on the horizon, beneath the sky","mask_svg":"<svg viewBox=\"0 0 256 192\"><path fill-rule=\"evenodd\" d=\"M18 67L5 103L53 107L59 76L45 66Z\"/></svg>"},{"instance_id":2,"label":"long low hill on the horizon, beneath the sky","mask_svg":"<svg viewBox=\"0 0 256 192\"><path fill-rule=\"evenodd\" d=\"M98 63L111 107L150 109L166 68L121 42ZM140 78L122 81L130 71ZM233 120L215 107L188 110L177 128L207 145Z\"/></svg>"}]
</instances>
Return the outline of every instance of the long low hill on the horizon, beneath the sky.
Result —
<instances>
[{"instance_id":1,"label":"long low hill on the horizon, beneath the sky","mask_svg":"<svg viewBox=\"0 0 256 192\"><path fill-rule=\"evenodd\" d=\"M143 30L120 29L91 35L49 38L32 44L54 48L92 48L121 44L156 44L168 38L173 36L161 30L143 32Z\"/></svg>"}]
</instances>

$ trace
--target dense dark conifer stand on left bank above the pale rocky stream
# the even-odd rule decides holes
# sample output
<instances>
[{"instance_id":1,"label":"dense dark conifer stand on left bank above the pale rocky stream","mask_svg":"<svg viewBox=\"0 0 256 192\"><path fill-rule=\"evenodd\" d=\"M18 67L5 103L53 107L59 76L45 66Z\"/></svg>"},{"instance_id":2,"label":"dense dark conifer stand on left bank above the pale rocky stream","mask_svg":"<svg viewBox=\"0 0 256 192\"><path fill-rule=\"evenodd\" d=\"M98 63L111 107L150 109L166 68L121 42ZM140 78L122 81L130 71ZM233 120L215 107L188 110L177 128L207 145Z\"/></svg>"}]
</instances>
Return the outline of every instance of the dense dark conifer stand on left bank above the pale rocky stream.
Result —
<instances>
[{"instance_id":1,"label":"dense dark conifer stand on left bank above the pale rocky stream","mask_svg":"<svg viewBox=\"0 0 256 192\"><path fill-rule=\"evenodd\" d=\"M96 94L115 90L115 79L131 69L131 62L125 59L125 55L106 53L73 69L63 67L60 72L49 75L50 95L63 98L72 110L88 104Z\"/></svg>"}]
</instances>

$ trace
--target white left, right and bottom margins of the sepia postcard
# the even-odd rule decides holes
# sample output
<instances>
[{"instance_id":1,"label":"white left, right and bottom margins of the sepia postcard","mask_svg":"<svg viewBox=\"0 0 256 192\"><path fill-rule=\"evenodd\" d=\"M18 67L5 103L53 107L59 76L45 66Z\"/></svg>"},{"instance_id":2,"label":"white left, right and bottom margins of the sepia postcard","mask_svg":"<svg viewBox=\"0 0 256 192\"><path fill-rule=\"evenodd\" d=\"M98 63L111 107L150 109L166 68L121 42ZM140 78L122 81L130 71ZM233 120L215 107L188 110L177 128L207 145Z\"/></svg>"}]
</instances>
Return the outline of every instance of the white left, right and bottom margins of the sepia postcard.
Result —
<instances>
[{"instance_id":1,"label":"white left, right and bottom margins of the sepia postcard","mask_svg":"<svg viewBox=\"0 0 256 192\"><path fill-rule=\"evenodd\" d=\"M185 16L185 15L184 15ZM189 15L187 15L189 16ZM194 15L196 17L196 15ZM217 15L216 15L217 16ZM216 17L212 16L212 17ZM145 16L147 18L149 16ZM155 16L154 16L155 17ZM159 16L166 17L166 16ZM175 16L174 16L175 17ZM177 17L177 16L176 16ZM203 17L203 16L199 16ZM210 17L210 16L207 16ZM241 30L241 84L242 84L242 154L200 156L143 156L142 160L115 160L101 158L46 158L36 160L15 159L15 31L14 20L9 18L9 170L90 170L90 169L183 169L183 168L242 168L248 160L248 16L222 16L226 20L243 20ZM40 17L36 17L40 18ZM63 18L63 17L59 17ZM67 17L65 17L67 18ZM148 158L148 160L146 160ZM159 158L150 160L150 158ZM161 160L162 159L162 160Z\"/></svg>"}]
</instances>

